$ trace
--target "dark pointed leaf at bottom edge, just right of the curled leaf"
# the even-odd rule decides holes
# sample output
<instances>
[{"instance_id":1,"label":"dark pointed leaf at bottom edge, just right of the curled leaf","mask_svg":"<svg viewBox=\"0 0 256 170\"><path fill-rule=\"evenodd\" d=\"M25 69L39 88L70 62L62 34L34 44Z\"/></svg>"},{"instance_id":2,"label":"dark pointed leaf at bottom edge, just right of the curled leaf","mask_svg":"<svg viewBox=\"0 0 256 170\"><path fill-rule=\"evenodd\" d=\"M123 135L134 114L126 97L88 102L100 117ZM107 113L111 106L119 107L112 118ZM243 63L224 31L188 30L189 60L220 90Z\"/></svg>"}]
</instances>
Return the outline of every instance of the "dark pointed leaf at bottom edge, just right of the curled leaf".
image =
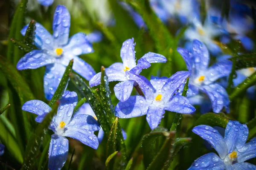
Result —
<instances>
[{"instance_id":1,"label":"dark pointed leaf at bottom edge, just right of the curled leaf","mask_svg":"<svg viewBox=\"0 0 256 170\"><path fill-rule=\"evenodd\" d=\"M163 143L160 151L154 157L153 161L149 164L147 170L161 169L164 166L165 162L170 159L169 154L172 152L173 149L174 136L175 132L171 131L168 138Z\"/></svg>"}]
</instances>

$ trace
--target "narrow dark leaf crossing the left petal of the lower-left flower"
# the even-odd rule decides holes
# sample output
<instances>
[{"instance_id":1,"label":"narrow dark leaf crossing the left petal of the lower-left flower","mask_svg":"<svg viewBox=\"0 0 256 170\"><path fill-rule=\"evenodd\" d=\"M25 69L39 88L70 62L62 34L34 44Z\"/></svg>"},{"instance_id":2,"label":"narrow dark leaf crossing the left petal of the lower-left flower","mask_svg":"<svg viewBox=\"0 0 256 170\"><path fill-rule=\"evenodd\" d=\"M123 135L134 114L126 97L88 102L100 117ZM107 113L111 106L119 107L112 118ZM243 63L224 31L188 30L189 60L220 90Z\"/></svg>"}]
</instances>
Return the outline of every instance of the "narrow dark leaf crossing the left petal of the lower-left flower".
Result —
<instances>
[{"instance_id":1,"label":"narrow dark leaf crossing the left petal of the lower-left flower","mask_svg":"<svg viewBox=\"0 0 256 170\"><path fill-rule=\"evenodd\" d=\"M44 137L47 135L49 130L50 122L52 121L52 117L57 112L58 109L58 102L52 105L52 111L50 111L44 118L43 122L38 124L34 133L29 138L24 161L21 167L21 170L27 169L35 169L35 159L38 158L38 154L40 152L41 144L44 140Z\"/></svg>"}]
</instances>

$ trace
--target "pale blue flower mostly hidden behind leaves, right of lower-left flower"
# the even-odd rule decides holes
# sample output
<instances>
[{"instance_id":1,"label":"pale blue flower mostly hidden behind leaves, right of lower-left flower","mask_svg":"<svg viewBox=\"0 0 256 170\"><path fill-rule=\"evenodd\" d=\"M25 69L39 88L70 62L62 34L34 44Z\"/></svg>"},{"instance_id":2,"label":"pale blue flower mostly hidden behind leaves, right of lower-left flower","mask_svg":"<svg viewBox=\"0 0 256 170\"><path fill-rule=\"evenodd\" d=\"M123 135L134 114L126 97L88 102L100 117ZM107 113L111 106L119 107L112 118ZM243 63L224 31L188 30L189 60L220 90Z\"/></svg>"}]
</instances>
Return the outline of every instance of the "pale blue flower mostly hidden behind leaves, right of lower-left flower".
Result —
<instances>
[{"instance_id":1,"label":"pale blue flower mostly hidden behind leaves, right of lower-left flower","mask_svg":"<svg viewBox=\"0 0 256 170\"><path fill-rule=\"evenodd\" d=\"M84 113L86 113L88 115L91 115L91 116L93 116L94 119L98 120L95 113L93 112L93 109L90 107L89 103L84 103L79 108L79 110L75 113L75 115L84 114ZM123 129L122 129L122 134L123 134L123 138L126 139L127 134ZM99 133L98 133L99 143L102 142L103 137L104 137L104 131L103 131L102 127L100 127L100 130L99 130Z\"/></svg>"}]
</instances>

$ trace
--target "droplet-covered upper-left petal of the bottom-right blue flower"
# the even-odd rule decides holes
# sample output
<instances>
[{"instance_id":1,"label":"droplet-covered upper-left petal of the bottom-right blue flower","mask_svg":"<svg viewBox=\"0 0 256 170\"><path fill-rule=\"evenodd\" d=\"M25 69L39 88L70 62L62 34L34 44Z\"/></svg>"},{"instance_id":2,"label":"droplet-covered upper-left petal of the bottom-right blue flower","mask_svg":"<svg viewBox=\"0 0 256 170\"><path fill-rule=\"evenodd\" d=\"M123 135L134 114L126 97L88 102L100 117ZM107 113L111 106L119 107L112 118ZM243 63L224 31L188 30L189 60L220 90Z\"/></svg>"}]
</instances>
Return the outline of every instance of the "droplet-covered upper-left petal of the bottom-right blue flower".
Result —
<instances>
[{"instance_id":1,"label":"droplet-covered upper-left petal of the bottom-right blue flower","mask_svg":"<svg viewBox=\"0 0 256 170\"><path fill-rule=\"evenodd\" d=\"M221 159L224 159L227 156L227 145L223 137L218 130L208 126L208 125L199 125L192 129L192 131L199 135L201 138L209 142L212 147L218 152Z\"/></svg>"}]
</instances>

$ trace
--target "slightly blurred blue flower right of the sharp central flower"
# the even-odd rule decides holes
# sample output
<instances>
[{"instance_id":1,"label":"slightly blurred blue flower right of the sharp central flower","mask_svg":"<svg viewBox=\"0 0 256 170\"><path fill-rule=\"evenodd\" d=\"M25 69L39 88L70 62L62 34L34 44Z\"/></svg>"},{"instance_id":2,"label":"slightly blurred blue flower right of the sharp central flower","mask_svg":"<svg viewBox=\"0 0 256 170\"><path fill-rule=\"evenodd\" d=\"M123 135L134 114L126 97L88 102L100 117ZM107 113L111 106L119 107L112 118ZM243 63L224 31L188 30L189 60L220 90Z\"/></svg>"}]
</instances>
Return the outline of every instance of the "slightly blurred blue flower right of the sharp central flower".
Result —
<instances>
[{"instance_id":1,"label":"slightly blurred blue flower right of the sharp central flower","mask_svg":"<svg viewBox=\"0 0 256 170\"><path fill-rule=\"evenodd\" d=\"M223 107L229 112L228 94L225 88L214 82L230 74L232 62L223 60L208 67L209 52L204 43L198 40L193 41L192 53L184 48L177 48L177 51L183 57L187 69L191 72L187 96L195 96L201 91L209 96L215 113L219 113ZM199 102L198 104L204 105L204 103L201 103L200 98L197 98L197 101ZM192 103L195 103L195 101Z\"/></svg>"}]
</instances>

